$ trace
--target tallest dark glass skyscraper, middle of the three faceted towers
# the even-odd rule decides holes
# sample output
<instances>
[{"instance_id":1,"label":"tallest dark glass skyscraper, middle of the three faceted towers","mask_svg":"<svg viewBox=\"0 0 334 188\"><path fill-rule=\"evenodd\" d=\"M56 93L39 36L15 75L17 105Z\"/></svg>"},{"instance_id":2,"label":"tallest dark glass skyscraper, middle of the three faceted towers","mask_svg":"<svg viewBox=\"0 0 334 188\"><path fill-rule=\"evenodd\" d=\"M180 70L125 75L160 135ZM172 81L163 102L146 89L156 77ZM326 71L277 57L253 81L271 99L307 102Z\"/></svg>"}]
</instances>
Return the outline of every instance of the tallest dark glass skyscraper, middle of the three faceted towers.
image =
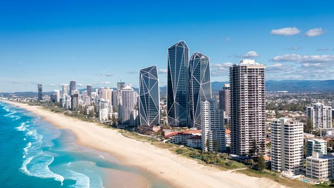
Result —
<instances>
[{"instance_id":1,"label":"tallest dark glass skyscraper, middle of the three faceted towers","mask_svg":"<svg viewBox=\"0 0 334 188\"><path fill-rule=\"evenodd\" d=\"M167 121L171 126L188 126L189 48L179 41L168 49Z\"/></svg>"}]
</instances>

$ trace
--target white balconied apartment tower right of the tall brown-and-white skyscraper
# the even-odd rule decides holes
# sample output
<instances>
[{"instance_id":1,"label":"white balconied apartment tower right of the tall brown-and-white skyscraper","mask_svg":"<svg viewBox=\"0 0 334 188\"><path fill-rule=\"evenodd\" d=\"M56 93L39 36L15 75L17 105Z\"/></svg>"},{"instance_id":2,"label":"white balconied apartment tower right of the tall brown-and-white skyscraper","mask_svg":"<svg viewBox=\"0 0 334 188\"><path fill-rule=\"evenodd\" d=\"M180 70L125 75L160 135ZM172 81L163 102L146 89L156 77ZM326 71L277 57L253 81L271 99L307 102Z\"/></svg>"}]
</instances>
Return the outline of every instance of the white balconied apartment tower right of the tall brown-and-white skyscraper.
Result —
<instances>
[{"instance_id":1,"label":"white balconied apartment tower right of the tall brown-and-white skyscraper","mask_svg":"<svg viewBox=\"0 0 334 188\"><path fill-rule=\"evenodd\" d=\"M291 118L271 123L271 169L297 173L304 162L303 123Z\"/></svg>"}]
</instances>

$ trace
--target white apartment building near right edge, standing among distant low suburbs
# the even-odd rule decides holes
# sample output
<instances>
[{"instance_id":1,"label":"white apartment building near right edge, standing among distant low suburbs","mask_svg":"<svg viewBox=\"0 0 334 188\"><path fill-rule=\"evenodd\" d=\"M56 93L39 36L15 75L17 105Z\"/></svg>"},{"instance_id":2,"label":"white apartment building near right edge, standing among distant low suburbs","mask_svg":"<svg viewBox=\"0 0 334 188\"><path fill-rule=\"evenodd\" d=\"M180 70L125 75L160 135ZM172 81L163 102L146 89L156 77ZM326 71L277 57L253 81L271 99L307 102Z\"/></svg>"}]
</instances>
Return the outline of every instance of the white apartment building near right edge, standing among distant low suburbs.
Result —
<instances>
[{"instance_id":1,"label":"white apartment building near right edge, standing among distant low suburbs","mask_svg":"<svg viewBox=\"0 0 334 188\"><path fill-rule=\"evenodd\" d=\"M315 103L307 106L306 114L311 118L314 128L331 128L331 106Z\"/></svg>"}]
</instances>

